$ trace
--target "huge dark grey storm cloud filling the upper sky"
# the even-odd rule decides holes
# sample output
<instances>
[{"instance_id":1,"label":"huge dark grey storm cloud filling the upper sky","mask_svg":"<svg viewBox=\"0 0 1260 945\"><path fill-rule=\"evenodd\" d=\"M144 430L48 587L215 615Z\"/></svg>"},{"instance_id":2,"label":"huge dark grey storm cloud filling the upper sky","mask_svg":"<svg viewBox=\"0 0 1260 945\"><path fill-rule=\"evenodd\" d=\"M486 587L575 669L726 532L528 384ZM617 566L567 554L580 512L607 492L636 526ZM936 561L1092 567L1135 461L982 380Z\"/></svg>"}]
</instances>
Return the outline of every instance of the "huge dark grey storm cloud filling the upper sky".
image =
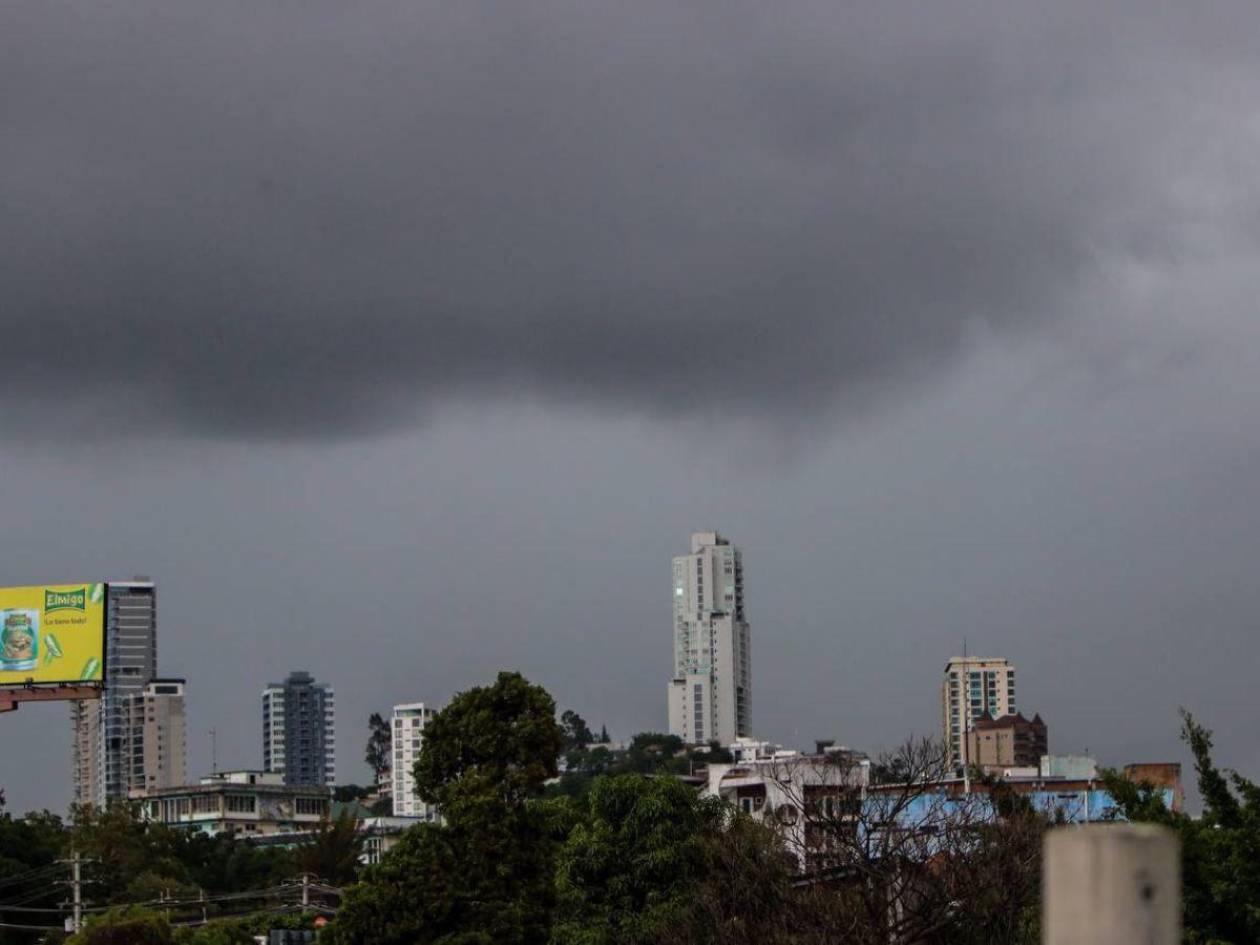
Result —
<instances>
[{"instance_id":1,"label":"huge dark grey storm cloud filling the upper sky","mask_svg":"<svg viewBox=\"0 0 1260 945\"><path fill-rule=\"evenodd\" d=\"M13 0L3 422L823 410L969 325L1105 310L1116 260L1250 242L1256 19Z\"/></svg>"}]
</instances>

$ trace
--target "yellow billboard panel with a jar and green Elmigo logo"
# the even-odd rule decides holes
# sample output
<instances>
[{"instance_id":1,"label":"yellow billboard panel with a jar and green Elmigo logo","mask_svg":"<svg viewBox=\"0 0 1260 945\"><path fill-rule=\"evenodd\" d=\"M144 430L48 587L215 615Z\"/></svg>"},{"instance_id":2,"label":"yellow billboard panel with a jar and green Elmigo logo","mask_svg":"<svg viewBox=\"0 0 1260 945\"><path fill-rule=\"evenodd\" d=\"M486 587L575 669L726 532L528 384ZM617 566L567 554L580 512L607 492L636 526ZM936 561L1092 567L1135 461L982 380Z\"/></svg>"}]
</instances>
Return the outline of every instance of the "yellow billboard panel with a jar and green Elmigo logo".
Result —
<instances>
[{"instance_id":1,"label":"yellow billboard panel with a jar and green Elmigo logo","mask_svg":"<svg viewBox=\"0 0 1260 945\"><path fill-rule=\"evenodd\" d=\"M0 587L0 687L105 679L105 585Z\"/></svg>"}]
</instances>

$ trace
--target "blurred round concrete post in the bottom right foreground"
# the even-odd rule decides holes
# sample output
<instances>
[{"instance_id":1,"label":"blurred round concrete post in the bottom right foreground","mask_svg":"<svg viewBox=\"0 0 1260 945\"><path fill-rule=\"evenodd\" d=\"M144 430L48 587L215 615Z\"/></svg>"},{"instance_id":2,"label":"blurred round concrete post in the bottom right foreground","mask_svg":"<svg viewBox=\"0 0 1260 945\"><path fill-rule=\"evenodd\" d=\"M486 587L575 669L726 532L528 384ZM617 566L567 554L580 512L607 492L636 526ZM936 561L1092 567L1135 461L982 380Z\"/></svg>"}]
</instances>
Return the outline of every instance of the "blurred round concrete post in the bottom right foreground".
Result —
<instances>
[{"instance_id":1,"label":"blurred round concrete post in the bottom right foreground","mask_svg":"<svg viewBox=\"0 0 1260 945\"><path fill-rule=\"evenodd\" d=\"M1043 945L1179 945L1181 847L1172 830L1060 827L1043 850Z\"/></svg>"}]
</instances>

